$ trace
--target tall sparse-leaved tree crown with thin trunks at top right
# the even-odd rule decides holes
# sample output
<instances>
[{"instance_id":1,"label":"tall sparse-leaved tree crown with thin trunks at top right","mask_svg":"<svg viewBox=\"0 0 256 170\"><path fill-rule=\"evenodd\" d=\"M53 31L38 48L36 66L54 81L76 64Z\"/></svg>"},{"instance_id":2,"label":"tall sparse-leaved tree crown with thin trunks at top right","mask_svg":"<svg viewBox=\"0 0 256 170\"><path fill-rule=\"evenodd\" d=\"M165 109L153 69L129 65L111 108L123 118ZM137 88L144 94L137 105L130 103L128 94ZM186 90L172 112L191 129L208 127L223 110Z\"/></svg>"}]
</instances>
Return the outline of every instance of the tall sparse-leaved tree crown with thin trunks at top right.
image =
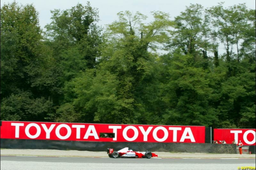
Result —
<instances>
[{"instance_id":1,"label":"tall sparse-leaved tree crown with thin trunks at top right","mask_svg":"<svg viewBox=\"0 0 256 170\"><path fill-rule=\"evenodd\" d=\"M240 43L244 30L250 25L246 17L248 10L245 4L234 5L228 8L223 7L223 3L213 6L207 10L211 16L212 24L218 29L218 38L226 49L226 59L230 62L236 56L237 62L241 59ZM236 54L233 51L236 45Z\"/></svg>"}]
</instances>

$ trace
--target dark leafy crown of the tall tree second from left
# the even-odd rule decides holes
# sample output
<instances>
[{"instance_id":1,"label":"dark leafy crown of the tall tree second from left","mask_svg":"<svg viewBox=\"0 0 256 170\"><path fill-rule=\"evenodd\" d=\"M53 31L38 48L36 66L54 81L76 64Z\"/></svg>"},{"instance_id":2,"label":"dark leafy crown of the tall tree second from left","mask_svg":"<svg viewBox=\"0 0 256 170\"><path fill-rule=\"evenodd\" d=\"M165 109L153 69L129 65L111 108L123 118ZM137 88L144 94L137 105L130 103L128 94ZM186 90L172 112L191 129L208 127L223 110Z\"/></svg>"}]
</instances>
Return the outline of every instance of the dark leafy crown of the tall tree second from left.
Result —
<instances>
[{"instance_id":1,"label":"dark leafy crown of the tall tree second from left","mask_svg":"<svg viewBox=\"0 0 256 170\"><path fill-rule=\"evenodd\" d=\"M96 26L98 10L87 2L86 6L77 4L68 10L51 12L52 22L45 27L55 58L62 60L66 50L76 48L83 55L87 68L95 67L101 43L101 29Z\"/></svg>"}]
</instances>

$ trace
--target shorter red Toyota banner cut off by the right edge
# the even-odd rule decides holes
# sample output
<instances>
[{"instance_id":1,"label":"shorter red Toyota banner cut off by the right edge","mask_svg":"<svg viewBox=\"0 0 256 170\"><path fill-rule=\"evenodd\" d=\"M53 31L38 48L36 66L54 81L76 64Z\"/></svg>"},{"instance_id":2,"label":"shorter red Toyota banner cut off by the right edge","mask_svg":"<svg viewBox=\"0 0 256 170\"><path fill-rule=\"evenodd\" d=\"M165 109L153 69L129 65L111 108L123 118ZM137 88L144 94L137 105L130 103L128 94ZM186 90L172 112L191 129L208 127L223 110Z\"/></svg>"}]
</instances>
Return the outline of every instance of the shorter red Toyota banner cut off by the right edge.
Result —
<instances>
[{"instance_id":1,"label":"shorter red Toyota banner cut off by the right edge","mask_svg":"<svg viewBox=\"0 0 256 170\"><path fill-rule=\"evenodd\" d=\"M225 140L227 144L231 144L235 139L236 144L239 140L244 145L255 145L255 129L213 129L213 139L219 141Z\"/></svg>"}]
</instances>

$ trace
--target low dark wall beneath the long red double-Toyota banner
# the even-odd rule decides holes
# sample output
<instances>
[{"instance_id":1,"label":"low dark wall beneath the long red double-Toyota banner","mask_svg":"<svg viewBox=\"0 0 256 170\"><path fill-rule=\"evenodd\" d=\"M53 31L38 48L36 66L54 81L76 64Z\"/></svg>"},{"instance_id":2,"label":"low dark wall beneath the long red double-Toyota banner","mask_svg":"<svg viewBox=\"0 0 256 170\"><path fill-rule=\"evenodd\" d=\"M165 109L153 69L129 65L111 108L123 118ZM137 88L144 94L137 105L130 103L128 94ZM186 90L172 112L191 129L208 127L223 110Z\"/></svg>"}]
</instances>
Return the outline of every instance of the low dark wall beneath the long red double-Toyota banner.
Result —
<instances>
[{"instance_id":1,"label":"low dark wall beneath the long red double-Toyota banner","mask_svg":"<svg viewBox=\"0 0 256 170\"><path fill-rule=\"evenodd\" d=\"M152 152L236 153L236 144L1 139L1 148L6 149L57 149L100 152L106 151L107 148L120 150L124 147L129 147L134 151L148 150Z\"/></svg>"}]
</instances>

